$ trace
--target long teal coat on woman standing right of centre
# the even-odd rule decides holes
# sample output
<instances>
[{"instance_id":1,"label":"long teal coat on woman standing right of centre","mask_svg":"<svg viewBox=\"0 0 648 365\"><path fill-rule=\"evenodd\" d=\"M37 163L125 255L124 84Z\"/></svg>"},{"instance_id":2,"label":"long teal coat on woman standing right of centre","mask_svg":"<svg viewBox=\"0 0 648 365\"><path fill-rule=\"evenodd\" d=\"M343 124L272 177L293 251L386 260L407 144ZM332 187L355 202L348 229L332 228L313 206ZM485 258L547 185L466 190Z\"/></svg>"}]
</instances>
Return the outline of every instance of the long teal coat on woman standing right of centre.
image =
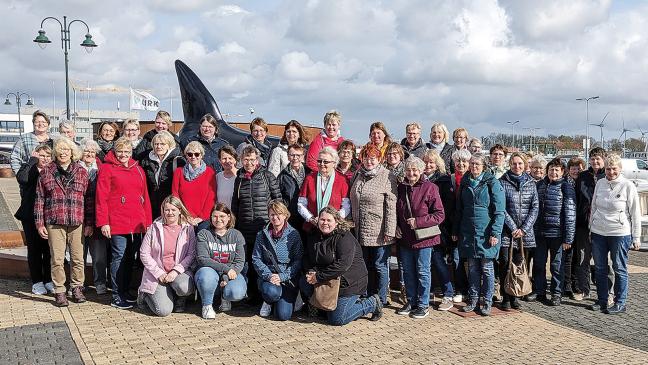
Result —
<instances>
[{"instance_id":1,"label":"long teal coat on woman standing right of centre","mask_svg":"<svg viewBox=\"0 0 648 365\"><path fill-rule=\"evenodd\" d=\"M494 259L500 243L491 246L490 237L502 235L505 214L504 189L492 173L485 171L481 181L470 185L470 173L461 179L453 235L459 236L462 258Z\"/></svg>"}]
</instances>

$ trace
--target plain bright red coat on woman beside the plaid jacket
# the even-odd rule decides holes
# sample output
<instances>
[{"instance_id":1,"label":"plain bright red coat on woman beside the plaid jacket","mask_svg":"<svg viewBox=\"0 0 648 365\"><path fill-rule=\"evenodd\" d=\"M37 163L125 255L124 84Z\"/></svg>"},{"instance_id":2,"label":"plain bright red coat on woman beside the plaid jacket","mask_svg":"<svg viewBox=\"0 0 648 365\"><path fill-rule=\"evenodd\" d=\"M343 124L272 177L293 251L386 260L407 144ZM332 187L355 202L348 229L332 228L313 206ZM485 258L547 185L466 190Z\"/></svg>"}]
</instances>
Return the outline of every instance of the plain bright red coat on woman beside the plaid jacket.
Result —
<instances>
[{"instance_id":1,"label":"plain bright red coat on woman beside the plaid jacket","mask_svg":"<svg viewBox=\"0 0 648 365\"><path fill-rule=\"evenodd\" d=\"M151 225L146 177L132 158L124 166L114 154L106 155L99 168L95 201L95 224L110 225L111 234L144 233Z\"/></svg>"}]
</instances>

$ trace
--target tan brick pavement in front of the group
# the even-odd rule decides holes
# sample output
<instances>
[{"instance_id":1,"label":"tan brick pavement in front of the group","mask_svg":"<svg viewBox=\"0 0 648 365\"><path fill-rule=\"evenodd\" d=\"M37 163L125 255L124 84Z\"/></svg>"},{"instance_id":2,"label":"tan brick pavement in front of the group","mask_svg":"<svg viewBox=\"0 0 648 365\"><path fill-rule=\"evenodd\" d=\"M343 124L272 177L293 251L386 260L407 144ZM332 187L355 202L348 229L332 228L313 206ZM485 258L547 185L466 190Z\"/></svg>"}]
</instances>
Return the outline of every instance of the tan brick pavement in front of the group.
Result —
<instances>
[{"instance_id":1,"label":"tan brick pavement in front of the group","mask_svg":"<svg viewBox=\"0 0 648 365\"><path fill-rule=\"evenodd\" d=\"M236 304L231 314L218 314L214 321L199 317L198 304L190 306L189 313L156 318L111 308L107 296L88 297L87 303L59 309L51 297L29 294L27 281L0 280L0 330L57 333L66 354L73 353L63 344L69 344L71 337L77 355L95 364L566 363L576 359L645 364L648 359L647 352L531 313L463 319L431 311L428 318L413 320L390 310L378 322L360 319L331 327L303 317L288 322L262 319L256 309ZM55 360L57 351L41 361L35 348L20 340L0 342L0 353L14 356L7 359L27 353L31 357L25 363L61 362ZM0 362L7 362L3 359Z\"/></svg>"}]
</instances>

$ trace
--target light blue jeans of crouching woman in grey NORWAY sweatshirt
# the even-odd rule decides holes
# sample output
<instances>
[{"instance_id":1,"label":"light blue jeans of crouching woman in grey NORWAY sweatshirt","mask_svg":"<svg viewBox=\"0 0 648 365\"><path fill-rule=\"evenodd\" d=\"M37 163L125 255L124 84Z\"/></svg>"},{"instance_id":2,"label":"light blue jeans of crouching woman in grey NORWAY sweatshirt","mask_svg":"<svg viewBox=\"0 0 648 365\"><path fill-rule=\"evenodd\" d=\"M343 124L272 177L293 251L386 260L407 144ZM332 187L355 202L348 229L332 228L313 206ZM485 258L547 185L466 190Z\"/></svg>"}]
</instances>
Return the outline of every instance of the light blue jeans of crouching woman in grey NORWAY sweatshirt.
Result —
<instances>
[{"instance_id":1,"label":"light blue jeans of crouching woman in grey NORWAY sweatshirt","mask_svg":"<svg viewBox=\"0 0 648 365\"><path fill-rule=\"evenodd\" d=\"M194 280L196 280L196 287L203 306L212 305L216 294L230 302L238 302L245 298L247 292L247 279L243 273L236 275L236 279L229 280L227 285L221 288L221 278L218 272L211 267L204 266L196 271Z\"/></svg>"}]
</instances>

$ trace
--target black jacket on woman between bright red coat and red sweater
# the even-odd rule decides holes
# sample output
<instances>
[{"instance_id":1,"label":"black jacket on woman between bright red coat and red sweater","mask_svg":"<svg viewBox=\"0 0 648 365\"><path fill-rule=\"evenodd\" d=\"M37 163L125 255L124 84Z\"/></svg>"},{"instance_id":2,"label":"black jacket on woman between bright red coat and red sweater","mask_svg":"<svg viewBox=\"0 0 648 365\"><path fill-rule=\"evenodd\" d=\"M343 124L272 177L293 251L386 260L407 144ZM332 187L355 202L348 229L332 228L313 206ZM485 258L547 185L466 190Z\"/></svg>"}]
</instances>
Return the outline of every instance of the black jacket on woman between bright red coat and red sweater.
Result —
<instances>
[{"instance_id":1,"label":"black jacket on woman between bright red coat and red sweater","mask_svg":"<svg viewBox=\"0 0 648 365\"><path fill-rule=\"evenodd\" d=\"M158 161L151 159L151 152L149 152L146 157L140 161L140 166L144 169L144 174L146 175L146 186L148 188L149 200L151 201L153 219L160 216L162 201L166 199L167 196L171 195L173 171L175 171L176 167L182 167L184 165L185 160L180 155L180 149L178 149L178 147L174 148L171 150L167 158L162 161L160 175L156 180L155 173L157 172L158 167L160 167L160 164Z\"/></svg>"}]
</instances>

